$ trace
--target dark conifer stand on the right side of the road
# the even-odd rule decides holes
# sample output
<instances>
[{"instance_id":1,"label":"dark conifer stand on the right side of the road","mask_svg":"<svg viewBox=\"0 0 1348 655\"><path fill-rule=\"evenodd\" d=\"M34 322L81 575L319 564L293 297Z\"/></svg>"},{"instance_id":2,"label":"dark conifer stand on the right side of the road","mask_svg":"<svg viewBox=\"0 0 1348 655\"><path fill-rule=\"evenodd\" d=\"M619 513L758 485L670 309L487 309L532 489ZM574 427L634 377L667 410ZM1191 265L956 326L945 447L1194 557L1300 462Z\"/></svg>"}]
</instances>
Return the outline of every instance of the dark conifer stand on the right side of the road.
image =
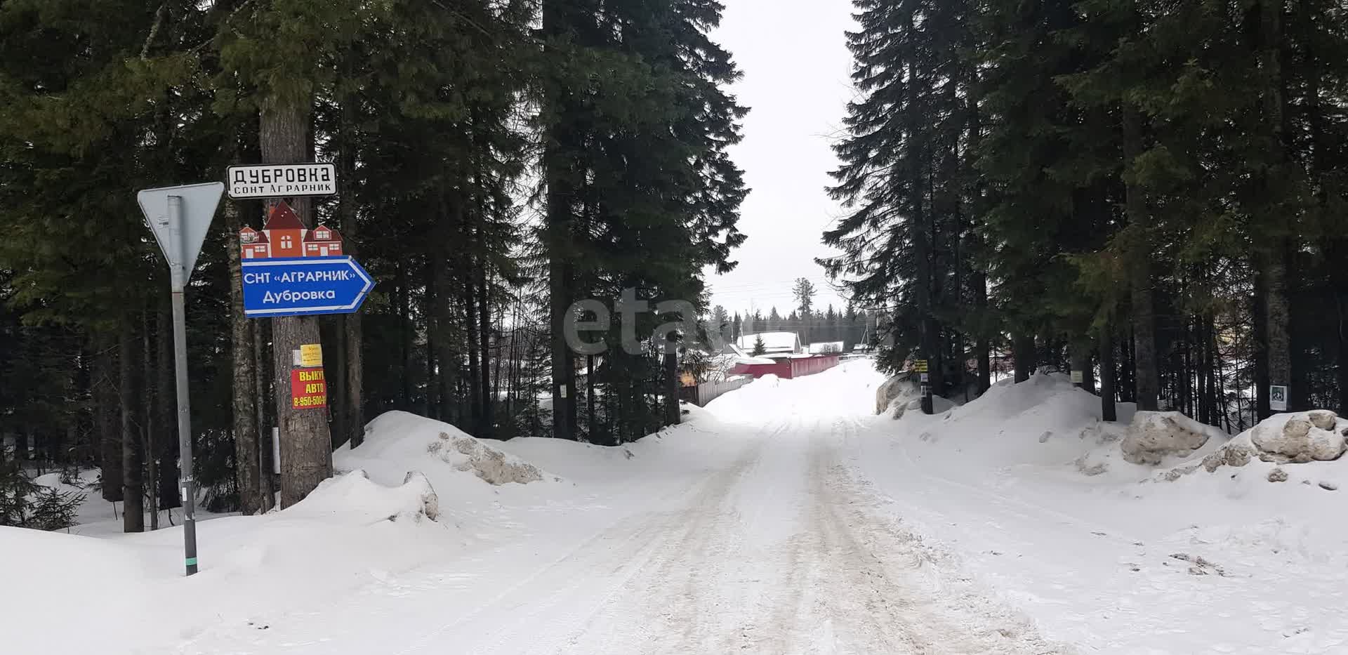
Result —
<instances>
[{"instance_id":1,"label":"dark conifer stand on the right side of the road","mask_svg":"<svg viewBox=\"0 0 1348 655\"><path fill-rule=\"evenodd\" d=\"M938 394L1348 412L1348 15L1324 0L855 0L824 259ZM1099 372L1099 375L1096 375ZM1274 394L1275 398L1270 398Z\"/></svg>"}]
</instances>

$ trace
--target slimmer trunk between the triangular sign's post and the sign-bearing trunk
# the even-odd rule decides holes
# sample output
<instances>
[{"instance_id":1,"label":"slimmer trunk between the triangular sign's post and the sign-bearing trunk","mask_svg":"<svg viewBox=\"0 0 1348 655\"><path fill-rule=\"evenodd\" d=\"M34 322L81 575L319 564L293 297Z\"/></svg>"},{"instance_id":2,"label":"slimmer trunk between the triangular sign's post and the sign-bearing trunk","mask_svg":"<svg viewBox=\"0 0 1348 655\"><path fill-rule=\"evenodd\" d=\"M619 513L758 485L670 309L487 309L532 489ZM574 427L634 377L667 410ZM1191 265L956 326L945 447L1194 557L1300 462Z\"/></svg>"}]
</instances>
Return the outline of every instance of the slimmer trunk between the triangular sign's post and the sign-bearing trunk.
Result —
<instances>
[{"instance_id":1,"label":"slimmer trunk between the triangular sign's post and the sign-bearing trunk","mask_svg":"<svg viewBox=\"0 0 1348 655\"><path fill-rule=\"evenodd\" d=\"M225 201L225 230L229 251L229 321L233 354L232 402L235 433L235 478L239 484L239 512L244 516L262 508L262 460L257 450L257 391L253 369L252 319L244 315L243 267L240 259L239 205Z\"/></svg>"}]
</instances>

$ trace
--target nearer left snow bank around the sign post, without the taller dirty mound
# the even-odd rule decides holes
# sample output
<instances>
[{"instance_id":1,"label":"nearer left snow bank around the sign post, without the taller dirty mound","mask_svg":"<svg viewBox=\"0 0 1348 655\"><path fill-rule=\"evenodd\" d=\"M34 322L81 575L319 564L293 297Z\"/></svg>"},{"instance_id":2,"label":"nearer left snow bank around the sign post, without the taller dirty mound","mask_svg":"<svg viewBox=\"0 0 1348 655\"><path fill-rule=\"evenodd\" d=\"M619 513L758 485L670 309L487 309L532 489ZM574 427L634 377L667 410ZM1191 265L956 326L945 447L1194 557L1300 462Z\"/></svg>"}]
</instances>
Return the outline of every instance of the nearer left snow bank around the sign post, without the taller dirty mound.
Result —
<instances>
[{"instance_id":1,"label":"nearer left snow bank around the sign post, without the taller dirty mound","mask_svg":"<svg viewBox=\"0 0 1348 655\"><path fill-rule=\"evenodd\" d=\"M181 526L101 539L0 527L0 553L22 562L5 569L5 589L22 593L0 598L0 650L214 652L193 644L214 631L264 629L462 550L469 540L435 520L426 478L404 477L386 487L353 472L280 512L200 522L201 573L190 578ZM148 629L150 616L166 629Z\"/></svg>"}]
</instances>

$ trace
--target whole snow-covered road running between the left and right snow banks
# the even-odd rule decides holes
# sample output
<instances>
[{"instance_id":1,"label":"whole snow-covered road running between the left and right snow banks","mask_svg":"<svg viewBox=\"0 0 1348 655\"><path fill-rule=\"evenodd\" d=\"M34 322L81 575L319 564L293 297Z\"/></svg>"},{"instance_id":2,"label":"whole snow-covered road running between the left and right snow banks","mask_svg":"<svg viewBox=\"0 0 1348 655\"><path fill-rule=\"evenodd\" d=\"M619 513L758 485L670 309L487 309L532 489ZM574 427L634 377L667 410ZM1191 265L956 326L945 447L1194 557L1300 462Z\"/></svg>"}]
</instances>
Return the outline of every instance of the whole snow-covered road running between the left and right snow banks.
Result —
<instances>
[{"instance_id":1,"label":"whole snow-covered road running between the left and right snow banks","mask_svg":"<svg viewBox=\"0 0 1348 655\"><path fill-rule=\"evenodd\" d=\"M570 520L553 534L406 571L266 629L209 631L183 650L1058 652L872 513L871 484L845 465L856 403L833 407L718 420L704 437L721 447L696 473L615 484L554 507ZM603 503L612 495L635 501Z\"/></svg>"}]
</instances>

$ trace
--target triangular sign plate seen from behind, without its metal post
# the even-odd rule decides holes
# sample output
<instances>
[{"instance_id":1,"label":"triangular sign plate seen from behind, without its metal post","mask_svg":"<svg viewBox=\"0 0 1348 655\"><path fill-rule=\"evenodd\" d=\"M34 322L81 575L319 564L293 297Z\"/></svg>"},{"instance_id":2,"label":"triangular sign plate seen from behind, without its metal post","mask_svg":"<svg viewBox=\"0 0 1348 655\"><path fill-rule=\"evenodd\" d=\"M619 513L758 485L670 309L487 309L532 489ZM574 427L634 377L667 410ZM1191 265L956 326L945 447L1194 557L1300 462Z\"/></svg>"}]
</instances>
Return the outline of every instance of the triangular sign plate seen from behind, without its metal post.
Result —
<instances>
[{"instance_id":1,"label":"triangular sign plate seen from behind, without its metal post","mask_svg":"<svg viewBox=\"0 0 1348 655\"><path fill-rule=\"evenodd\" d=\"M182 288L197 268L197 255L206 240L210 221L220 206L220 195L225 193L222 182L202 185L166 186L146 189L136 194L136 202L146 214L146 224L155 235L159 249L168 260L168 274L175 288ZM168 209L168 198L182 198L178 225L174 225Z\"/></svg>"}]
</instances>

